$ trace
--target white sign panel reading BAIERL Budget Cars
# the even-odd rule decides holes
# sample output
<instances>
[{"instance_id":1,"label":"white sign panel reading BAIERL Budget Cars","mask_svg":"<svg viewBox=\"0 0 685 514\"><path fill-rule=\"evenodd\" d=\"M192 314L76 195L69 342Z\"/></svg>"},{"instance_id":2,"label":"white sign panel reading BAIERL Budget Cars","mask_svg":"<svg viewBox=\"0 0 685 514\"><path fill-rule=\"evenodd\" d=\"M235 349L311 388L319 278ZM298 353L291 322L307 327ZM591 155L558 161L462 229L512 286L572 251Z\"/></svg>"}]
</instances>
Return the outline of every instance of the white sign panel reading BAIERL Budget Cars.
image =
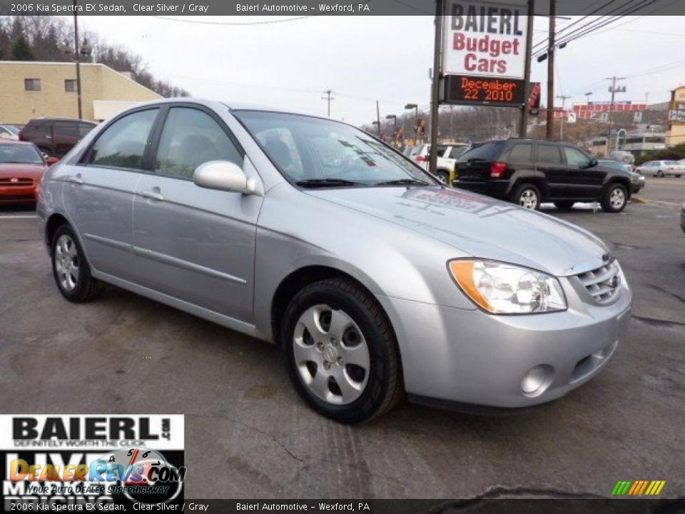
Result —
<instances>
[{"instance_id":1,"label":"white sign panel reading BAIERL Budget Cars","mask_svg":"<svg viewBox=\"0 0 685 514\"><path fill-rule=\"evenodd\" d=\"M527 7L489 1L447 1L442 73L523 79Z\"/></svg>"}]
</instances>

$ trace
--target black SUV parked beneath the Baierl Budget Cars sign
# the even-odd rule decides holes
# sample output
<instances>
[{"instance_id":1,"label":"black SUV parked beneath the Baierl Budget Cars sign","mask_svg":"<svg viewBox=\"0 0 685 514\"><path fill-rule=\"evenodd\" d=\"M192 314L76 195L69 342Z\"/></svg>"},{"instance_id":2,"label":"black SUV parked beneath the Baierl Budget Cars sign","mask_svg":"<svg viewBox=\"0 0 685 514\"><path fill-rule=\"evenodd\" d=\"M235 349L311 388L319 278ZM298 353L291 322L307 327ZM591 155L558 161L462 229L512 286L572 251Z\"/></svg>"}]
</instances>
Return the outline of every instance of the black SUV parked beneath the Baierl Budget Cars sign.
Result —
<instances>
[{"instance_id":1,"label":"black SUV parked beneath the Baierl Budget Cars sign","mask_svg":"<svg viewBox=\"0 0 685 514\"><path fill-rule=\"evenodd\" d=\"M628 171L555 141L487 141L463 153L455 168L455 187L532 209L545 201L562 209L577 201L599 201L603 211L617 213L631 192Z\"/></svg>"}]
</instances>

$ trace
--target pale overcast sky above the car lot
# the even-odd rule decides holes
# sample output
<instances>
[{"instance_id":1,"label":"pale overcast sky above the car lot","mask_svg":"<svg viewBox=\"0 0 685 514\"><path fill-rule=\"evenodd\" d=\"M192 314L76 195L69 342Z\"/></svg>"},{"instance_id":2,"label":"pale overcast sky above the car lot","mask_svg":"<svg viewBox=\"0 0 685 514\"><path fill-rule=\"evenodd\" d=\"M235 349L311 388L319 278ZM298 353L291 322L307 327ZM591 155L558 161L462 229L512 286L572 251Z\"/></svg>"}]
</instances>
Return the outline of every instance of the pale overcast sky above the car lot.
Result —
<instances>
[{"instance_id":1,"label":"pale overcast sky above the car lot","mask_svg":"<svg viewBox=\"0 0 685 514\"><path fill-rule=\"evenodd\" d=\"M143 57L148 71L199 96L222 101L285 106L326 114L323 100L333 90L331 117L369 124L380 103L381 119L402 114L407 103L427 106L432 66L432 16L79 16L79 25L108 43L123 44ZM285 20L244 25L255 21ZM559 19L559 30L577 19ZM557 54L555 94L567 106L608 101L609 81L626 93L617 100L668 101L685 84L685 16L626 16L614 29L572 41ZM534 43L548 21L535 21ZM547 62L533 60L532 81L542 82Z\"/></svg>"}]
</instances>

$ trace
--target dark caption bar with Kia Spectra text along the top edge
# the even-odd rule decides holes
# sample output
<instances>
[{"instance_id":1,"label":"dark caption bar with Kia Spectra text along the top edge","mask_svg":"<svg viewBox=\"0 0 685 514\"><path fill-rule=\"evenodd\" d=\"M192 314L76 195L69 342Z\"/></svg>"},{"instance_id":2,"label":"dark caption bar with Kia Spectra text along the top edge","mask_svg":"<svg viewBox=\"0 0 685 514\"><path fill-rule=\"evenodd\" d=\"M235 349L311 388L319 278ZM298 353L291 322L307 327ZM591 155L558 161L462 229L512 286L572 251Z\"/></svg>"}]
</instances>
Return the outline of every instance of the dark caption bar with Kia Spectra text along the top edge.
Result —
<instances>
[{"instance_id":1,"label":"dark caption bar with Kia Spectra text along the top edge","mask_svg":"<svg viewBox=\"0 0 685 514\"><path fill-rule=\"evenodd\" d=\"M499 6L527 13L525 0L482 0L470 3L486 9ZM631 6L630 9L626 8L626 15L685 15L685 1L682 0L641 1ZM557 0L557 16L616 14L612 9L615 11L612 2L597 6L595 0ZM208 19L203 23L231 24L233 21L230 19L209 16L271 16L276 21L285 16L435 16L435 0L77 0L76 12L84 16L163 16L170 19L206 16ZM546 16L548 12L548 1L536 2L535 14ZM73 0L0 0L0 15L68 16L73 13ZM235 23L239 24L240 20ZM519 24L525 30L522 20L519 20Z\"/></svg>"}]
</instances>

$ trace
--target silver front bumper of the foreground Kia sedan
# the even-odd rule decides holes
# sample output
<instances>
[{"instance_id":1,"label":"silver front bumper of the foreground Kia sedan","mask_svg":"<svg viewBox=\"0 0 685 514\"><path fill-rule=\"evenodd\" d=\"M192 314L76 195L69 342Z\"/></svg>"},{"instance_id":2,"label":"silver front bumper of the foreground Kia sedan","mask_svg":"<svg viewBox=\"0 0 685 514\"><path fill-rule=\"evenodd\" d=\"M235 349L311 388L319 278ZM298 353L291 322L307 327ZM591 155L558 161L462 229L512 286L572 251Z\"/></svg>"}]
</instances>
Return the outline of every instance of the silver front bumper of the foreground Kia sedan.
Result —
<instances>
[{"instance_id":1,"label":"silver front bumper of the foreground Kia sedan","mask_svg":"<svg viewBox=\"0 0 685 514\"><path fill-rule=\"evenodd\" d=\"M564 280L565 281L565 280ZM609 306L591 306L562 283L569 309L492 316L379 297L395 327L410 395L495 408L524 408L559 398L596 375L616 351L630 318L624 284ZM533 368L548 374L524 393Z\"/></svg>"}]
</instances>

